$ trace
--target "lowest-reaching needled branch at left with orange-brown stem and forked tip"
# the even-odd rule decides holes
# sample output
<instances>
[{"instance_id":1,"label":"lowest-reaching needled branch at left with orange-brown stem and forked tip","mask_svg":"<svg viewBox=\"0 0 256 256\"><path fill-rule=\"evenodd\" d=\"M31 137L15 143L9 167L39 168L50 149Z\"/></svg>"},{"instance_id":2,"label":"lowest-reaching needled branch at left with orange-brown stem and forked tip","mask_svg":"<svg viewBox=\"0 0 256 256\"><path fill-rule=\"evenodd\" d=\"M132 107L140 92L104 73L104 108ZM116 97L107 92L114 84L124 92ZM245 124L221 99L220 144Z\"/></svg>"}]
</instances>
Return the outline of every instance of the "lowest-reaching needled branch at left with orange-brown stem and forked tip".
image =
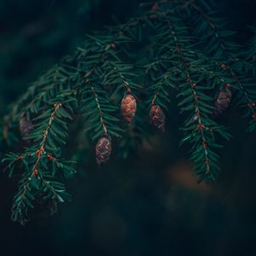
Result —
<instances>
[{"instance_id":1,"label":"lowest-reaching needled branch at left with orange-brown stem and forked tip","mask_svg":"<svg viewBox=\"0 0 256 256\"><path fill-rule=\"evenodd\" d=\"M66 106L67 102L65 102ZM33 140L33 146L26 148L23 154L7 154L3 160L9 161L10 175L13 175L14 169L19 167L17 163L20 160L24 168L12 207L12 219L21 224L26 222L28 209L34 208L36 197L44 196L44 204L49 201L54 207L56 201L62 202L63 198L70 199L62 183L56 182L56 187L61 187L58 189L50 180L55 177L55 173L52 172L49 175L47 171L48 166L54 161L54 164L63 171L73 172L72 167L66 166L65 160L61 164L61 160L56 160L54 156L59 155L59 147L63 146L63 138L67 134L65 132L66 123L61 119L72 119L72 117L62 107L61 102L56 102L52 111L46 111L34 119L34 121L38 121L38 128L28 136ZM59 126L64 130L61 131ZM45 197L46 194L47 197Z\"/></svg>"}]
</instances>

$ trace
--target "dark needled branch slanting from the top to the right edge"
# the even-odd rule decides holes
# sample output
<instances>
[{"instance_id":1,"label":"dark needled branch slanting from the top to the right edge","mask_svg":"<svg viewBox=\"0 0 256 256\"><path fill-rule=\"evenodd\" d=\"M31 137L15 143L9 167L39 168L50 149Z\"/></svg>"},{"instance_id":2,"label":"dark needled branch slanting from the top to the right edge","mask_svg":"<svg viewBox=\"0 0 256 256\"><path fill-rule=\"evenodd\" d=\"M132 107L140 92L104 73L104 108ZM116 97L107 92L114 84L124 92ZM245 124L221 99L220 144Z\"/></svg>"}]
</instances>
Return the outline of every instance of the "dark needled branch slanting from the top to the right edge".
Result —
<instances>
[{"instance_id":1,"label":"dark needled branch slanting from the top to the right edge","mask_svg":"<svg viewBox=\"0 0 256 256\"><path fill-rule=\"evenodd\" d=\"M201 3L203 2L204 1L201 0ZM247 72L247 78L242 79L242 77L244 77L242 73L245 71L242 67L244 67L246 61L240 61L241 55L236 54L236 52L239 52L238 49L240 46L230 43L230 36L233 35L234 32L221 29L221 26L218 25L221 20L215 19L214 21L211 15L208 15L199 4L192 3L191 7L195 9L203 19L202 21L197 20L196 33L207 43L206 51L208 54L212 55L214 61L218 63L218 67L221 67L224 71L229 73L230 78L234 81L234 83L231 84L231 88L237 90L237 104L241 108L247 108L247 116L251 119L248 130L253 131L256 127L254 124L256 120L256 100L253 100L254 96L248 93L247 89L248 84L252 83L252 79L249 79L251 73ZM204 20L207 26L204 26ZM219 49L221 49L221 51ZM219 59L223 59L224 61L221 63ZM248 66L249 64L246 65Z\"/></svg>"}]
</instances>

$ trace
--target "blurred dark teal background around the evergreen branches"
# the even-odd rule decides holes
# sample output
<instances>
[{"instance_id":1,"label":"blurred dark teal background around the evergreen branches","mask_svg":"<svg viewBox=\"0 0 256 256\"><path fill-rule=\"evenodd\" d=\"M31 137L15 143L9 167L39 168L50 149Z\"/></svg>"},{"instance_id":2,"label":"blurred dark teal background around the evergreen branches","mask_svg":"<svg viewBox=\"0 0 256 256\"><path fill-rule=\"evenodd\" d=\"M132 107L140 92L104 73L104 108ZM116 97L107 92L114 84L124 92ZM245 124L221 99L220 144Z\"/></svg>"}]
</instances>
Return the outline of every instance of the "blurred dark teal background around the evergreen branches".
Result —
<instances>
[{"instance_id":1,"label":"blurred dark teal background around the evergreen branches","mask_svg":"<svg viewBox=\"0 0 256 256\"><path fill-rule=\"evenodd\" d=\"M136 15L141 2L0 0L1 117L85 33ZM216 6L238 31L237 42L246 42L247 26L256 21L255 1ZM1 173L0 255L256 255L255 132L245 136L239 113L225 113L221 121L232 126L234 138L225 145L222 173L218 183L197 184L189 148L178 148L182 120L175 102L172 109L169 131L151 137L127 160L113 152L114 160L99 169L84 155L84 165L67 183L73 201L53 217L42 212L26 226L13 223L16 180Z\"/></svg>"}]
</instances>

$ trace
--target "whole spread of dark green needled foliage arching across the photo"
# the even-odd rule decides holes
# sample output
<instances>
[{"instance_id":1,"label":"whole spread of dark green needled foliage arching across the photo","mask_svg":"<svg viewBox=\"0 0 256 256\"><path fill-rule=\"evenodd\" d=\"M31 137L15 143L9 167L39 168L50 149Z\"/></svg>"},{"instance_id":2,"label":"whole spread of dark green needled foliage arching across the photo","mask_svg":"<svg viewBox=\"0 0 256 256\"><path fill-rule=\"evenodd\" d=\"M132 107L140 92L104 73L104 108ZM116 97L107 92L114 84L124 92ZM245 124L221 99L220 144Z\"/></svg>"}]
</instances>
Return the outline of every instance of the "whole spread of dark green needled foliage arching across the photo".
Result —
<instances>
[{"instance_id":1,"label":"whole spread of dark green needled foliage arching across the photo","mask_svg":"<svg viewBox=\"0 0 256 256\"><path fill-rule=\"evenodd\" d=\"M82 120L93 143L117 137L113 148L118 144L119 155L127 158L148 137L150 107L160 106L168 119L176 95L183 116L181 142L191 144L190 160L200 181L216 180L222 139L230 139L214 116L220 90L229 85L233 105L249 119L248 130L255 131L255 38L248 48L233 43L234 33L209 1L144 5L149 10L143 15L88 35L13 104L3 131L18 125L24 114L33 125L25 138L29 146L4 159L10 176L15 169L21 172L14 220L23 223L35 201L55 212L57 202L70 199L62 182L73 174L73 161L62 160L61 149L74 119ZM131 125L119 113L127 91L139 106Z\"/></svg>"}]
</instances>

